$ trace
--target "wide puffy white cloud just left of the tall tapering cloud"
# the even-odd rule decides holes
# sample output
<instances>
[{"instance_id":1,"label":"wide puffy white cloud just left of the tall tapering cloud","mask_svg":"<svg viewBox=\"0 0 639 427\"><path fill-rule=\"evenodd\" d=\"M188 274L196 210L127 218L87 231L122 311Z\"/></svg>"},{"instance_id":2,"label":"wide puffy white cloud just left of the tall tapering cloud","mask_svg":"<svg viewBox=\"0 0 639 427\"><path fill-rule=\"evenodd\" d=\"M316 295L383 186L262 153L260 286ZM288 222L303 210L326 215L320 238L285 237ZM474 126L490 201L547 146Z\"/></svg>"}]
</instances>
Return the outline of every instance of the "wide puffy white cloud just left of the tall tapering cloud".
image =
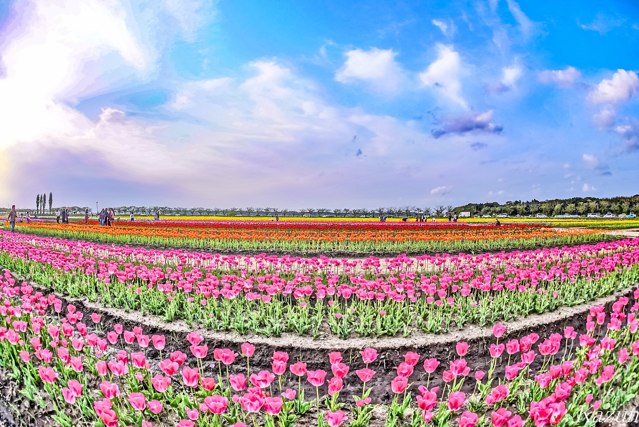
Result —
<instances>
[{"instance_id":1,"label":"wide puffy white cloud just left of the tall tapering cloud","mask_svg":"<svg viewBox=\"0 0 639 427\"><path fill-rule=\"evenodd\" d=\"M401 68L395 61L397 52L392 49L362 49L346 52L346 62L337 70L335 80L351 82L362 80L383 91L396 91L402 79Z\"/></svg>"}]
</instances>

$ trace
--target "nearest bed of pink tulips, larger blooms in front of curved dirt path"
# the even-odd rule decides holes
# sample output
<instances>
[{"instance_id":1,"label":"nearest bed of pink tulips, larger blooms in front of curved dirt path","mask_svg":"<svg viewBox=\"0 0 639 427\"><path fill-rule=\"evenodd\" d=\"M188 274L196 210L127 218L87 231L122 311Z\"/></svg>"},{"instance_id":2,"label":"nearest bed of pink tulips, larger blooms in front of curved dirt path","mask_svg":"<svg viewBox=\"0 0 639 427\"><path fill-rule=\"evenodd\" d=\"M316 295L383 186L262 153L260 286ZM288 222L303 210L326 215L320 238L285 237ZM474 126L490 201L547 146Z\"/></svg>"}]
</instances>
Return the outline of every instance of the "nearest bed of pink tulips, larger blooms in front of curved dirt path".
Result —
<instances>
[{"instance_id":1,"label":"nearest bed of pink tulips, larger blooms in front of curved dirt path","mask_svg":"<svg viewBox=\"0 0 639 427\"><path fill-rule=\"evenodd\" d=\"M63 426L363 427L376 410L371 396L388 397L387 426L521 427L528 418L527 425L571 426L601 420L639 389L639 291L593 306L578 327L547 337L494 325L485 366L472 361L484 352L478 338L454 343L448 361L421 348L389 357L368 347L323 360L275 352L269 369L252 363L259 346L221 348L197 331L171 340L143 325L105 323L9 271L3 294L0 364ZM380 384L387 363L395 374Z\"/></svg>"}]
</instances>

